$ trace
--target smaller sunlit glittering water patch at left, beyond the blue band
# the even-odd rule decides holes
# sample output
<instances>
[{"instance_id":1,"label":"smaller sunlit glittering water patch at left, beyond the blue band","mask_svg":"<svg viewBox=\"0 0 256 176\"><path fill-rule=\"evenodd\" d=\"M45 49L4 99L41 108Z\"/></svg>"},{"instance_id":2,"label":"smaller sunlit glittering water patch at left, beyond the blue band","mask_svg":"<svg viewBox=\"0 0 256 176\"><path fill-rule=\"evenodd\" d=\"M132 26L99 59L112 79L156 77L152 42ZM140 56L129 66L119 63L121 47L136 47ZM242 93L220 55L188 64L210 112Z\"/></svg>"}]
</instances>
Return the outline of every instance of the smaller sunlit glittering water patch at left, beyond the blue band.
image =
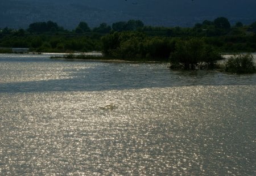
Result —
<instances>
[{"instance_id":1,"label":"smaller sunlit glittering water patch at left, beyond the blue band","mask_svg":"<svg viewBox=\"0 0 256 176\"><path fill-rule=\"evenodd\" d=\"M74 65L70 63L53 62L49 64L38 62L5 62L0 65L0 74L2 78L0 83L18 83L29 81L48 81L72 79L74 72ZM75 71L86 70L93 68L93 65L84 66L77 64Z\"/></svg>"}]
</instances>

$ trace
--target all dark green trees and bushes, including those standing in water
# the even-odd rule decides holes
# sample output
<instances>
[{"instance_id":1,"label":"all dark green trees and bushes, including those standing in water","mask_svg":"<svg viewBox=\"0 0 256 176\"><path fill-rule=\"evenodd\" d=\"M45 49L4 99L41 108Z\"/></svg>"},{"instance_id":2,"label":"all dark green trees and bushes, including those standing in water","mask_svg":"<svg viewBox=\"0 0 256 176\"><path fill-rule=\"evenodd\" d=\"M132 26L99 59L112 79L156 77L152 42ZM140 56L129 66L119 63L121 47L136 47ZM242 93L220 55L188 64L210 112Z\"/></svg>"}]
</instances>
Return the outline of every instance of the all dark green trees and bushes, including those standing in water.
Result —
<instances>
[{"instance_id":1,"label":"all dark green trees and bushes, including those standing in water","mask_svg":"<svg viewBox=\"0 0 256 176\"><path fill-rule=\"evenodd\" d=\"M36 22L27 29L0 29L0 53L11 48L28 48L35 53L75 53L102 51L93 59L122 59L140 62L170 62L171 68L185 70L216 68L216 61L224 53L252 53L256 51L256 22L231 25L225 17L204 20L194 27L152 27L141 20L101 23L90 28L80 22L68 31L57 23ZM67 59L92 59L88 55L69 54ZM229 72L254 73L250 54L233 55L226 62Z\"/></svg>"}]
</instances>

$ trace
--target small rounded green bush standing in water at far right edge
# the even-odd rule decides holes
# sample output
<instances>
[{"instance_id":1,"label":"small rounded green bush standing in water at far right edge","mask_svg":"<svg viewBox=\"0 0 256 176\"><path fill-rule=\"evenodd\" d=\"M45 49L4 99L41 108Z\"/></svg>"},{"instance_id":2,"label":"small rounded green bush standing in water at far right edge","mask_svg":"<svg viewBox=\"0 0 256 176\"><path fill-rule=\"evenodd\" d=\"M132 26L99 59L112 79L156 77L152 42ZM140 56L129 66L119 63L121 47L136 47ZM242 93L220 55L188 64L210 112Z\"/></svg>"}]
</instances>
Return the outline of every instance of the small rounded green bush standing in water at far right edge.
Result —
<instances>
[{"instance_id":1,"label":"small rounded green bush standing in water at far right edge","mask_svg":"<svg viewBox=\"0 0 256 176\"><path fill-rule=\"evenodd\" d=\"M238 54L229 57L225 65L225 70L228 72L245 74L254 73L256 68L253 62L253 55L251 54Z\"/></svg>"}]
</instances>

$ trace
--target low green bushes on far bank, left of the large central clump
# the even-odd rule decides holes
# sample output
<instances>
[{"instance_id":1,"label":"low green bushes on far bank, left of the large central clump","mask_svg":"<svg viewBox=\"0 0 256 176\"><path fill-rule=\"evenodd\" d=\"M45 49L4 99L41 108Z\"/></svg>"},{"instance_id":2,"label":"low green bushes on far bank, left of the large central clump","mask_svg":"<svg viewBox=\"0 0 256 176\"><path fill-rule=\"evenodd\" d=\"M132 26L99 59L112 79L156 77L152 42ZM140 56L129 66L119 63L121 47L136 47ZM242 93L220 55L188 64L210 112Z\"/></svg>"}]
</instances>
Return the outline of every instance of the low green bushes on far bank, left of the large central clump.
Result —
<instances>
[{"instance_id":1,"label":"low green bushes on far bank, left of the large central clump","mask_svg":"<svg viewBox=\"0 0 256 176\"><path fill-rule=\"evenodd\" d=\"M102 43L99 38L76 35L8 35L1 38L0 46L6 48L30 48L31 51L40 52L102 50Z\"/></svg>"}]
</instances>

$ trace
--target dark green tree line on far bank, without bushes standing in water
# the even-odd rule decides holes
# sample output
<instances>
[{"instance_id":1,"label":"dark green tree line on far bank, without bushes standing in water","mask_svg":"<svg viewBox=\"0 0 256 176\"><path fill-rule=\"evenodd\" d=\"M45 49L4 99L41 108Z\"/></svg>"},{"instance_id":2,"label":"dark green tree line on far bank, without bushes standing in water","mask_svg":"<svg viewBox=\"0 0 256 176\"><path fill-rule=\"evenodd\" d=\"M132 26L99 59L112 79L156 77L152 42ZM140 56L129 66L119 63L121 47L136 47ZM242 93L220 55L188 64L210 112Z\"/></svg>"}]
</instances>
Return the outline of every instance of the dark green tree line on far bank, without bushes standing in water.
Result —
<instances>
[{"instance_id":1,"label":"dark green tree line on far bank, without bushes standing in water","mask_svg":"<svg viewBox=\"0 0 256 176\"><path fill-rule=\"evenodd\" d=\"M190 28L152 27L141 20L101 23L90 28L80 22L68 31L55 22L36 22L27 29L0 29L0 47L30 48L31 51L104 51L110 57L167 61L180 42L200 40L218 52L256 51L256 22L231 25L220 17Z\"/></svg>"}]
</instances>

